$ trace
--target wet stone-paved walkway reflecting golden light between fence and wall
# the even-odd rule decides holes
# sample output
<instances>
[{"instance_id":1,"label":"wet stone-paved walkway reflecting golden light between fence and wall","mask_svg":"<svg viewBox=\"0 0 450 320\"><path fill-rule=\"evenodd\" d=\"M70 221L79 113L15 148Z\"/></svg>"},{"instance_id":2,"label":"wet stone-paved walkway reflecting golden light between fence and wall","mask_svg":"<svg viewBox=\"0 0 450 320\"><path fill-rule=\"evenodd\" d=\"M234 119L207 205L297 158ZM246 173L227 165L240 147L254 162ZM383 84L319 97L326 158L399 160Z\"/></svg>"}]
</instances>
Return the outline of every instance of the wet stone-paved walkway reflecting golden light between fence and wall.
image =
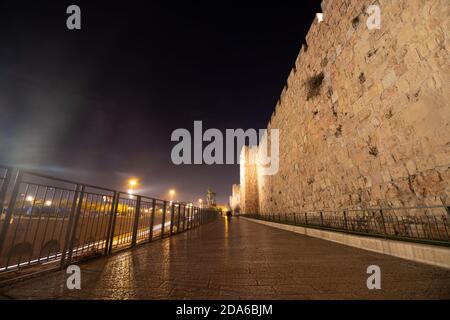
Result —
<instances>
[{"instance_id":1,"label":"wet stone-paved walkway reflecting golden light between fence and wall","mask_svg":"<svg viewBox=\"0 0 450 320\"><path fill-rule=\"evenodd\" d=\"M368 290L369 265L381 290ZM450 270L233 218L0 288L6 299L449 299Z\"/></svg>"}]
</instances>

